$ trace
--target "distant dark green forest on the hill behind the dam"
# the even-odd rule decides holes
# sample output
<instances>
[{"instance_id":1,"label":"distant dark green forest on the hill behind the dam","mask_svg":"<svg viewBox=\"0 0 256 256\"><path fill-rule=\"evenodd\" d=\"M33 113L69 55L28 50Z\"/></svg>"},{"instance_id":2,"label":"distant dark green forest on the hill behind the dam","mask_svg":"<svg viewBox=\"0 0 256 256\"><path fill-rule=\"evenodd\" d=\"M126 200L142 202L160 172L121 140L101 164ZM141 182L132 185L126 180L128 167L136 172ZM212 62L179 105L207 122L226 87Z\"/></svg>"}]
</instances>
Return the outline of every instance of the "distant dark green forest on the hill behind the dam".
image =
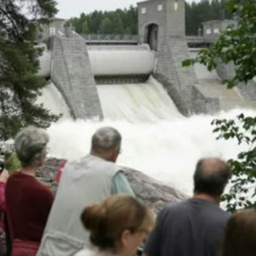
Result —
<instances>
[{"instance_id":1,"label":"distant dark green forest on the hill behind the dam","mask_svg":"<svg viewBox=\"0 0 256 256\"><path fill-rule=\"evenodd\" d=\"M197 35L201 29L201 23L207 20L218 20L220 18L231 18L230 12L225 12L225 1L212 0L199 3L186 3L186 34ZM68 25L74 27L81 34L131 34L138 33L137 8L130 6L128 10L117 9L115 12L92 12L82 13L79 18L71 18ZM83 24L87 23L87 27ZM88 29L87 29L88 28Z\"/></svg>"}]
</instances>

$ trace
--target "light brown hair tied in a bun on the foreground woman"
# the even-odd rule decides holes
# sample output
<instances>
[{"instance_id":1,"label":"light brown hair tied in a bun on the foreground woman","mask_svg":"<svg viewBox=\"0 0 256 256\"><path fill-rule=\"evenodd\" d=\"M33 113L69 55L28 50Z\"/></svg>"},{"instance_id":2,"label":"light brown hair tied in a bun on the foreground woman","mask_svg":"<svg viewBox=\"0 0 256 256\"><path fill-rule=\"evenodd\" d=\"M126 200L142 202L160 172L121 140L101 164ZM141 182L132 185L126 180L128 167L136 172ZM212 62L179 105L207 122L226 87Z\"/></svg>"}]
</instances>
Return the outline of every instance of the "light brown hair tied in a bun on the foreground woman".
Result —
<instances>
[{"instance_id":1,"label":"light brown hair tied in a bun on the foreground woman","mask_svg":"<svg viewBox=\"0 0 256 256\"><path fill-rule=\"evenodd\" d=\"M128 195L113 195L103 203L89 205L81 221L91 232L92 244L100 249L115 249L124 230L150 233L154 227L154 212Z\"/></svg>"}]
</instances>

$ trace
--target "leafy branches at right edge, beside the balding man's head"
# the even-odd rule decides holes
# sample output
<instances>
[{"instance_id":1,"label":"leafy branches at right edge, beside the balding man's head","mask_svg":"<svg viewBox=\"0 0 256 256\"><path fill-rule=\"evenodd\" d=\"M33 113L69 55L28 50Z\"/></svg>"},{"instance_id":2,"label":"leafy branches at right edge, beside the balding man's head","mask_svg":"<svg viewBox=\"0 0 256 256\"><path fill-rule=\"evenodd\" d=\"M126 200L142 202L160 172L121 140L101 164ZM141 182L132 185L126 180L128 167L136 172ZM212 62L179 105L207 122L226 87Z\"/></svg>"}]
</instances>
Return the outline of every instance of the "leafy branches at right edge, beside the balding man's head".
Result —
<instances>
[{"instance_id":1,"label":"leafy branches at right edge, beside the balding man's head","mask_svg":"<svg viewBox=\"0 0 256 256\"><path fill-rule=\"evenodd\" d=\"M245 143L248 150L240 152L237 159L230 159L233 171L229 193L223 196L230 212L241 208L256 207L256 117L238 115L236 119L215 119L217 139L235 139L238 145Z\"/></svg>"}]
</instances>

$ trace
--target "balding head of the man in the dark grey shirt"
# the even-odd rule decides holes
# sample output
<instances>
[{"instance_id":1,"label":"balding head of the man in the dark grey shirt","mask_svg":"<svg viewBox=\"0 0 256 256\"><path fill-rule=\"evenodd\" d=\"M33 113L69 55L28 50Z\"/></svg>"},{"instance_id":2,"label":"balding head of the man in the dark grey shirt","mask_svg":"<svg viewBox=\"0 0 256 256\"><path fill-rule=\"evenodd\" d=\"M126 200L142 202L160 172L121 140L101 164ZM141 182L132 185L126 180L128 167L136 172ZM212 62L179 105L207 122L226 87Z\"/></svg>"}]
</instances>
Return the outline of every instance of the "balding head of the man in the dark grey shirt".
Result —
<instances>
[{"instance_id":1,"label":"balding head of the man in the dark grey shirt","mask_svg":"<svg viewBox=\"0 0 256 256\"><path fill-rule=\"evenodd\" d=\"M203 158L197 162L194 192L220 197L230 178L231 170L226 162L218 158Z\"/></svg>"}]
</instances>

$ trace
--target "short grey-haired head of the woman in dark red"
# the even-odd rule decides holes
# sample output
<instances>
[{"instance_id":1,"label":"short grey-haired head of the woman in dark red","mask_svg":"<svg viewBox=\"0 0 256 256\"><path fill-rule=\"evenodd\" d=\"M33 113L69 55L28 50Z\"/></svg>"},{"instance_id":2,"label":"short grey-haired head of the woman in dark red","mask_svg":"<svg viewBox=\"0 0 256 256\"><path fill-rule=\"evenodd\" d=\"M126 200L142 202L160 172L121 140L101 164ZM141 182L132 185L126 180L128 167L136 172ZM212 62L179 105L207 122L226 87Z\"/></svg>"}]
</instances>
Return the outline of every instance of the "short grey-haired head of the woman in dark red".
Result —
<instances>
[{"instance_id":1,"label":"short grey-haired head of the woman in dark red","mask_svg":"<svg viewBox=\"0 0 256 256\"><path fill-rule=\"evenodd\" d=\"M16 135L14 146L23 167L38 164L42 154L46 154L48 134L42 128L28 126Z\"/></svg>"}]
</instances>

